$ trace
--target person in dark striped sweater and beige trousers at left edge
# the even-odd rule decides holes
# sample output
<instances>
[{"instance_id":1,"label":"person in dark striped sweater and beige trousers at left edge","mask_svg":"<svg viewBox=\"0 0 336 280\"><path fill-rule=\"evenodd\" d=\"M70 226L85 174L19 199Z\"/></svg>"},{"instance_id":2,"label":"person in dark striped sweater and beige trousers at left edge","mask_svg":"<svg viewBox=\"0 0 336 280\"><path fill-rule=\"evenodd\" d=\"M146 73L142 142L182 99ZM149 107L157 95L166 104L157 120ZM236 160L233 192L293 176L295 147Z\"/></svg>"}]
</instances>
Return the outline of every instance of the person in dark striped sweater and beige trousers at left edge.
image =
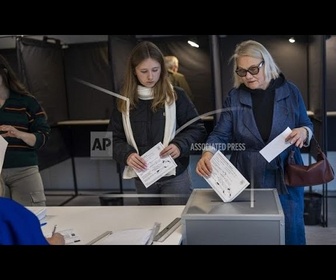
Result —
<instances>
[{"instance_id":1,"label":"person in dark striped sweater and beige trousers at left edge","mask_svg":"<svg viewBox=\"0 0 336 280\"><path fill-rule=\"evenodd\" d=\"M37 151L49 134L46 113L0 55L0 135L8 142L0 196L25 206L45 206Z\"/></svg>"}]
</instances>

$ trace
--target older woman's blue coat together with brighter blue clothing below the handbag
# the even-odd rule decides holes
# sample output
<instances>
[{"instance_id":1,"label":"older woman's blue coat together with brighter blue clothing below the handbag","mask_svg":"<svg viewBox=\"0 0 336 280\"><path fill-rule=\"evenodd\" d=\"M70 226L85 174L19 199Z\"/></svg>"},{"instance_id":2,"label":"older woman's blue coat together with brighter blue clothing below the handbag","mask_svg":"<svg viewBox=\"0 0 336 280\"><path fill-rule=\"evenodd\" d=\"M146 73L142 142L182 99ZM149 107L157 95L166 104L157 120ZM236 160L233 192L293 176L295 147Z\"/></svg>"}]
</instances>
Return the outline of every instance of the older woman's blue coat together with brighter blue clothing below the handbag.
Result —
<instances>
[{"instance_id":1,"label":"older woman's blue coat together with brighter blue clothing below the handbag","mask_svg":"<svg viewBox=\"0 0 336 280\"><path fill-rule=\"evenodd\" d=\"M284 183L284 164L294 145L284 150L270 163L259 153L269 142L290 129L307 126L313 131L313 124L307 114L299 89L285 81L275 89L274 112L271 133L265 143L257 128L251 93L239 88L232 89L223 104L223 111L207 144L221 144L231 153L230 161L254 188L277 188L285 215L285 243L305 244L304 188L288 187ZM302 164L300 149L295 147L295 161Z\"/></svg>"}]
</instances>

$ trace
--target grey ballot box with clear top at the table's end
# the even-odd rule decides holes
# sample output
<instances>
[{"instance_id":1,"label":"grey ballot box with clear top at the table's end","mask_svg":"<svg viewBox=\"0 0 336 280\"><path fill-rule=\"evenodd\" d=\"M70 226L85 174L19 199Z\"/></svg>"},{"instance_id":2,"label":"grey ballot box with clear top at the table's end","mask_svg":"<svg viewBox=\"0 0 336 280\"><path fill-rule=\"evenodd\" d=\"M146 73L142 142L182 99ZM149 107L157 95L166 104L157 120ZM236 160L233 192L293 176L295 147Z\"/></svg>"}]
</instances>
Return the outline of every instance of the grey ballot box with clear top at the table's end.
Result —
<instances>
[{"instance_id":1,"label":"grey ballot box with clear top at the table's end","mask_svg":"<svg viewBox=\"0 0 336 280\"><path fill-rule=\"evenodd\" d=\"M181 215L183 245L283 245L285 220L276 189L245 189L223 202L194 189Z\"/></svg>"}]
</instances>

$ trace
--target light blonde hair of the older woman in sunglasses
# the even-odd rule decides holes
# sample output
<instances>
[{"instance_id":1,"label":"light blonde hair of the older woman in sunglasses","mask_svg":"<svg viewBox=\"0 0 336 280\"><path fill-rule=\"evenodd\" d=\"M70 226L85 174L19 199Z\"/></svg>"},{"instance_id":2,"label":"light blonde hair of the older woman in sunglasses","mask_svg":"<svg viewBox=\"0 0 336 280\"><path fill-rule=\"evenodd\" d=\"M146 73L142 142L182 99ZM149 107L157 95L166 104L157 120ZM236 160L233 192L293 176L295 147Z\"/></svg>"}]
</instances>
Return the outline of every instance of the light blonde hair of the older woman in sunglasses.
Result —
<instances>
[{"instance_id":1,"label":"light blonde hair of the older woman in sunglasses","mask_svg":"<svg viewBox=\"0 0 336 280\"><path fill-rule=\"evenodd\" d=\"M242 56L259 58L264 61L263 71L267 82L279 77L280 68L275 63L269 51L261 43L247 40L236 46L234 54L230 58L230 61L233 60L233 87L238 88L243 83L243 78L239 77L235 72L237 70L237 59Z\"/></svg>"}]
</instances>

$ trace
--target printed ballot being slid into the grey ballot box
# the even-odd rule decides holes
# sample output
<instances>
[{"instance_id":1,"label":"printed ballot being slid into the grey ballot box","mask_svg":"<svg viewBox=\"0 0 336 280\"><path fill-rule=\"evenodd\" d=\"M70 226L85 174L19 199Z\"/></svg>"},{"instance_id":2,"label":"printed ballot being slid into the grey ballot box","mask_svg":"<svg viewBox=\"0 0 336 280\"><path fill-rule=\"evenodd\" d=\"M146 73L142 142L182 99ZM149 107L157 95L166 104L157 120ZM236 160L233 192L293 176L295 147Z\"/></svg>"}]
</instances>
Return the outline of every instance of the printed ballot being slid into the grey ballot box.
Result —
<instances>
[{"instance_id":1,"label":"printed ballot being slid into the grey ballot box","mask_svg":"<svg viewBox=\"0 0 336 280\"><path fill-rule=\"evenodd\" d=\"M234 200L250 184L221 151L210 162L212 173L204 179L224 202Z\"/></svg>"}]
</instances>

